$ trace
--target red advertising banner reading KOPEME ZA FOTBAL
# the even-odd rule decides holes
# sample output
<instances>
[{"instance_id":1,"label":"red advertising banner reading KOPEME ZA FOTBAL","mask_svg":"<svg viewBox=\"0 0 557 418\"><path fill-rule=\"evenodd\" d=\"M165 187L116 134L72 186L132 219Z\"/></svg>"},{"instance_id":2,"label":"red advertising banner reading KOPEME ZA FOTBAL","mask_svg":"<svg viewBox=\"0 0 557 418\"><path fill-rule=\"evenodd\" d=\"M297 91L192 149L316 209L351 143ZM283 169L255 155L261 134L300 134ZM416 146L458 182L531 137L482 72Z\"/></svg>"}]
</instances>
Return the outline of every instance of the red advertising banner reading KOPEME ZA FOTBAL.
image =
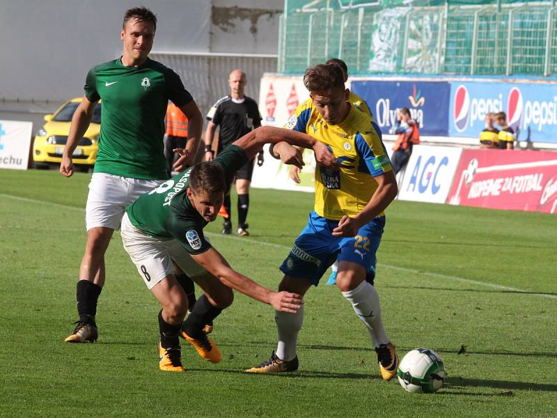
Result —
<instances>
[{"instance_id":1,"label":"red advertising banner reading KOPEME ZA FOTBAL","mask_svg":"<svg viewBox=\"0 0 557 418\"><path fill-rule=\"evenodd\" d=\"M557 153L463 150L447 203L557 213Z\"/></svg>"}]
</instances>

